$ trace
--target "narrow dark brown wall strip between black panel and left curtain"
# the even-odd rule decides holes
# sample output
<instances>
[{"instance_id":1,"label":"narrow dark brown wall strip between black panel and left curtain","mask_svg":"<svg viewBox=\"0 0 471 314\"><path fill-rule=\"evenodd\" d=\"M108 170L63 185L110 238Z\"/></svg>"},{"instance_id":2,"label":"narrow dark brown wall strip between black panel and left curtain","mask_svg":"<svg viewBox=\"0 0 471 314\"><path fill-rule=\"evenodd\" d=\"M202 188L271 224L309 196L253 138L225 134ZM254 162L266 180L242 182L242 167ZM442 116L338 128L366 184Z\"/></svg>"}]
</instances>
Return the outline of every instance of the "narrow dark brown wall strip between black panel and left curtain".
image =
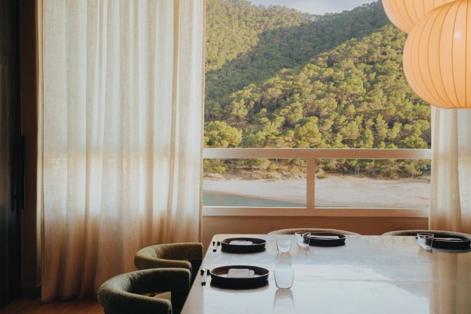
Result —
<instances>
[{"instance_id":1,"label":"narrow dark brown wall strip between black panel and left curtain","mask_svg":"<svg viewBox=\"0 0 471 314\"><path fill-rule=\"evenodd\" d=\"M41 234L37 210L35 1L20 2L21 132L25 136L26 208L22 211L22 297L40 295Z\"/></svg>"}]
</instances>

